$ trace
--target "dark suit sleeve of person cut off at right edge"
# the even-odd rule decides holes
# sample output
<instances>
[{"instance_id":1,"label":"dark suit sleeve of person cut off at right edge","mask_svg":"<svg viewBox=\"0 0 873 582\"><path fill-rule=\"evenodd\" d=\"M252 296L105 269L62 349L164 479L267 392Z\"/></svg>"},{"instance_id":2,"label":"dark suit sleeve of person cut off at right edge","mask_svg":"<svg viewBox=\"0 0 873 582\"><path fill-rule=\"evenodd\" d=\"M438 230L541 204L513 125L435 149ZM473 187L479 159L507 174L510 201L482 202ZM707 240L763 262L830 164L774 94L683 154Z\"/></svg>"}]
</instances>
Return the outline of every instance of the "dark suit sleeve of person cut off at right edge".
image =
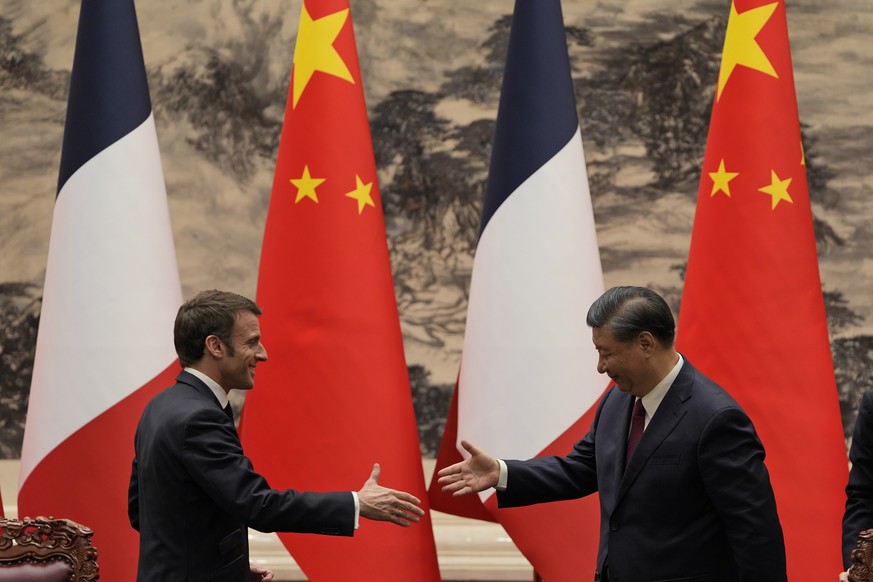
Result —
<instances>
[{"instance_id":1,"label":"dark suit sleeve of person cut off at right edge","mask_svg":"<svg viewBox=\"0 0 873 582\"><path fill-rule=\"evenodd\" d=\"M855 433L849 449L852 470L846 485L843 514L843 566L848 568L858 534L873 528L873 390L861 397Z\"/></svg>"}]
</instances>

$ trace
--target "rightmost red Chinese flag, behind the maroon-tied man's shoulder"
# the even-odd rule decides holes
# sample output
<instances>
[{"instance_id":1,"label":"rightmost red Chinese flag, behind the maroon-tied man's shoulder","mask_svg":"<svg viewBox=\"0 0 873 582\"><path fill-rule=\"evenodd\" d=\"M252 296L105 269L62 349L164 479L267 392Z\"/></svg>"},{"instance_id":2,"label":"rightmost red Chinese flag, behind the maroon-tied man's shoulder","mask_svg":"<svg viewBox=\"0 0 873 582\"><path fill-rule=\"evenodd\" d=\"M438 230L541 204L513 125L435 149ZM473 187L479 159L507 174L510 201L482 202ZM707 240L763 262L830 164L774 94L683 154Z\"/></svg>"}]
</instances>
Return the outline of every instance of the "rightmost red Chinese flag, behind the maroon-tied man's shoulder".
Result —
<instances>
[{"instance_id":1,"label":"rightmost red Chinese flag, behind the maroon-tied man's shoulder","mask_svg":"<svg viewBox=\"0 0 873 582\"><path fill-rule=\"evenodd\" d=\"M677 343L767 451L790 580L841 563L846 449L819 279L785 4L735 0Z\"/></svg>"}]
</instances>

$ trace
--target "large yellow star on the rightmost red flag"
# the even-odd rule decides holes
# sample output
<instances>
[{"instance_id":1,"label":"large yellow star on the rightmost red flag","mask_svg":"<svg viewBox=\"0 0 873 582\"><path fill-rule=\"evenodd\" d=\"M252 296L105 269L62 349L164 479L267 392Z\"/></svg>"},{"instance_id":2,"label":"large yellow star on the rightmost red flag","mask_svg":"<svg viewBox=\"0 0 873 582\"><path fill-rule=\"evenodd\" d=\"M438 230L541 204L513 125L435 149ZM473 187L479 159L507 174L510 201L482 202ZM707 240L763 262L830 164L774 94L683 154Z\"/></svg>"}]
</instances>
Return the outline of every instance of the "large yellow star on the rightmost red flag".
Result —
<instances>
[{"instance_id":1,"label":"large yellow star on the rightmost red flag","mask_svg":"<svg viewBox=\"0 0 873 582\"><path fill-rule=\"evenodd\" d=\"M724 52L721 55L721 69L718 72L716 101L721 98L721 92L737 65L743 65L766 73L771 77L779 78L773 65L770 64L770 59L767 58L755 40L764 25L773 16L778 4L778 2L774 2L739 14L734 2L731 2L731 15L728 18L727 32L724 37Z\"/></svg>"}]
</instances>

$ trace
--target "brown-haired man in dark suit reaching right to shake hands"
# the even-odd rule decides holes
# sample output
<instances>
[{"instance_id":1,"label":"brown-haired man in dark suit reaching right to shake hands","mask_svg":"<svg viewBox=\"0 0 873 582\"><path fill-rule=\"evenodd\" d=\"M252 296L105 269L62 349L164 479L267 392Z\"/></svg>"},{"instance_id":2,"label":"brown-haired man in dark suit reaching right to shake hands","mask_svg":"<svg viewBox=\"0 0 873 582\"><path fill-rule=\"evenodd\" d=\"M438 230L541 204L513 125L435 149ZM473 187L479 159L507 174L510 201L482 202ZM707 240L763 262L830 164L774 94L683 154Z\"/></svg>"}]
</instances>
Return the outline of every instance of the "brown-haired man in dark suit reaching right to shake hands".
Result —
<instances>
[{"instance_id":1,"label":"brown-haired man in dark suit reaching right to shake hands","mask_svg":"<svg viewBox=\"0 0 873 582\"><path fill-rule=\"evenodd\" d=\"M254 471L227 394L251 389L267 360L260 313L222 291L179 309L174 342L184 369L146 406L134 441L128 513L140 532L141 582L271 580L249 564L248 527L351 536L359 516L409 526L424 514L414 496L378 484L378 465L357 492L278 491Z\"/></svg>"}]
</instances>

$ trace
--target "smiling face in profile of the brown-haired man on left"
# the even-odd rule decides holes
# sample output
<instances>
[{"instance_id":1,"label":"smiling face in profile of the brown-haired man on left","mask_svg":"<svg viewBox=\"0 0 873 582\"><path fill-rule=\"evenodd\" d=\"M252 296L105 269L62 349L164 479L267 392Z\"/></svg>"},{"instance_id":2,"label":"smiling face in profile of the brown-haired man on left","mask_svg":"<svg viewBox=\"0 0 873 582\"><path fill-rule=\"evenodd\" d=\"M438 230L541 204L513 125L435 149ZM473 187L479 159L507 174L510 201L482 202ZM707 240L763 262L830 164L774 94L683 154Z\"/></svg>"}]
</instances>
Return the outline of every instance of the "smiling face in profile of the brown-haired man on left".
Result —
<instances>
[{"instance_id":1,"label":"smiling face in profile of the brown-haired man on left","mask_svg":"<svg viewBox=\"0 0 873 582\"><path fill-rule=\"evenodd\" d=\"M240 311L233 324L232 346L224 345L218 337L207 341L221 342L221 357L218 359L218 383L226 391L251 390L255 385L255 366L267 361L267 350L261 344L261 328L258 316L251 311Z\"/></svg>"}]
</instances>

